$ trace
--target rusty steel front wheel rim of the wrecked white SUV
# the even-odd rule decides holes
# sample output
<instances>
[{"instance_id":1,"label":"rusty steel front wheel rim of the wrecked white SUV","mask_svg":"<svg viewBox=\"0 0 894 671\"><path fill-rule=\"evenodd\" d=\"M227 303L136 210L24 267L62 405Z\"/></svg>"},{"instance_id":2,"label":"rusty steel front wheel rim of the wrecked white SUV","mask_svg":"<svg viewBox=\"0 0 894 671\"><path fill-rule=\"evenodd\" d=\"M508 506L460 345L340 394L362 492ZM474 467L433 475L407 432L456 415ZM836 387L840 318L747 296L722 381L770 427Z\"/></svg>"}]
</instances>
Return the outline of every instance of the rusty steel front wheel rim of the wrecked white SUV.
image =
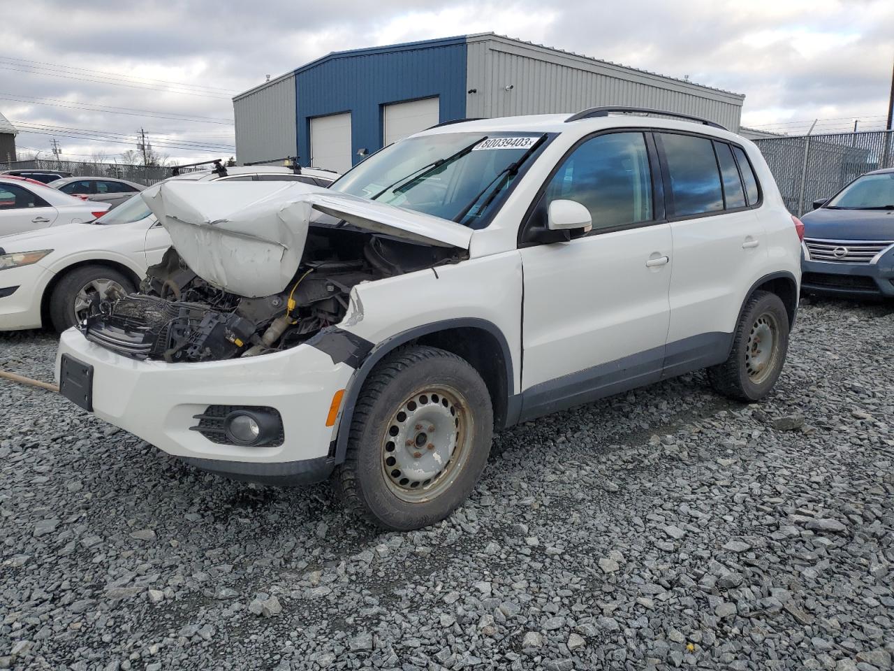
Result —
<instances>
[{"instance_id":1,"label":"rusty steel front wheel rim of the wrecked white SUV","mask_svg":"<svg viewBox=\"0 0 894 671\"><path fill-rule=\"evenodd\" d=\"M468 460L473 432L471 414L456 389L426 387L409 395L382 440L388 488L408 503L438 497Z\"/></svg>"}]
</instances>

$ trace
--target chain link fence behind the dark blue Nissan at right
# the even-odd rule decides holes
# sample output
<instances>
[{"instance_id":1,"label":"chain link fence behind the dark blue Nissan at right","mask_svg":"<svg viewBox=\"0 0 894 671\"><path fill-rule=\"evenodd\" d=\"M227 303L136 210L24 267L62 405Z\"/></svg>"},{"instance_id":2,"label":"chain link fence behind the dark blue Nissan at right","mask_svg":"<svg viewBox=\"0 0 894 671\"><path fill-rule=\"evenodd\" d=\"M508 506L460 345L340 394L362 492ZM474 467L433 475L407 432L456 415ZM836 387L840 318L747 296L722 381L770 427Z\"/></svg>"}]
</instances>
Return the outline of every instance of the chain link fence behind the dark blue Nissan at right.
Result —
<instances>
[{"instance_id":1,"label":"chain link fence behind the dark blue Nissan at right","mask_svg":"<svg viewBox=\"0 0 894 671\"><path fill-rule=\"evenodd\" d=\"M800 217L861 174L894 167L894 131L843 132L753 140L789 212Z\"/></svg>"}]
</instances>

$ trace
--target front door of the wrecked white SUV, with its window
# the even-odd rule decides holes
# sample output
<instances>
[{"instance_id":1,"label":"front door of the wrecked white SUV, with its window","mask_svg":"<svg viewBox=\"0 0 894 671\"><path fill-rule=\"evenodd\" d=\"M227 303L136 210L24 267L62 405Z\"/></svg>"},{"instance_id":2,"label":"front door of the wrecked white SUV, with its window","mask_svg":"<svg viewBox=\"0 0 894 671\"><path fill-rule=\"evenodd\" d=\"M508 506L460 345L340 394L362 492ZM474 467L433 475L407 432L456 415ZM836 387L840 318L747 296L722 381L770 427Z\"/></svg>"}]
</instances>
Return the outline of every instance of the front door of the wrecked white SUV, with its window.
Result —
<instances>
[{"instance_id":1,"label":"front door of the wrecked white SUV, with its window","mask_svg":"<svg viewBox=\"0 0 894 671\"><path fill-rule=\"evenodd\" d=\"M584 140L525 225L523 420L661 377L672 241L654 191L650 142L642 132ZM592 232L538 243L536 231L557 199L585 205Z\"/></svg>"}]
</instances>

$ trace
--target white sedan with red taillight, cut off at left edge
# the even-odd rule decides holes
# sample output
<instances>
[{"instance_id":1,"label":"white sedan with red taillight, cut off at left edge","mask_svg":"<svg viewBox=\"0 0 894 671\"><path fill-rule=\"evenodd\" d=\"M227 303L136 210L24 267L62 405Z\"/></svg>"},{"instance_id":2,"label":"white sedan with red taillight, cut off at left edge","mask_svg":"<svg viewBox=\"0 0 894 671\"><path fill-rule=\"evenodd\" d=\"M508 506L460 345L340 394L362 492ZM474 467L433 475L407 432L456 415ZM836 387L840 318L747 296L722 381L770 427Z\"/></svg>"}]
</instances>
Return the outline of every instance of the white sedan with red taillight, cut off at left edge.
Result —
<instances>
[{"instance_id":1,"label":"white sedan with red taillight, cut off at left edge","mask_svg":"<svg viewBox=\"0 0 894 671\"><path fill-rule=\"evenodd\" d=\"M0 236L86 223L102 217L109 207L32 180L0 176Z\"/></svg>"}]
</instances>

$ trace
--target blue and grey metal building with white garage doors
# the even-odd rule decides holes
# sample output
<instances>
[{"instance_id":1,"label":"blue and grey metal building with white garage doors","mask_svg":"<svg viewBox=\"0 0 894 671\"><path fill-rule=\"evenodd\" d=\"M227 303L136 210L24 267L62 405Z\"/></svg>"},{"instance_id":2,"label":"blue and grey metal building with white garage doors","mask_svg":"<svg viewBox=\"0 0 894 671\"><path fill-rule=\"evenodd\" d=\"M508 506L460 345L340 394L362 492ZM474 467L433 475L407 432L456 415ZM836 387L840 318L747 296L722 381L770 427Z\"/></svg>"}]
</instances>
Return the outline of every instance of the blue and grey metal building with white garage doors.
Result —
<instances>
[{"instance_id":1,"label":"blue and grey metal building with white garage doors","mask_svg":"<svg viewBox=\"0 0 894 671\"><path fill-rule=\"evenodd\" d=\"M343 172L454 119L649 107L737 130L745 96L493 33L333 52L233 98L240 163Z\"/></svg>"}]
</instances>

